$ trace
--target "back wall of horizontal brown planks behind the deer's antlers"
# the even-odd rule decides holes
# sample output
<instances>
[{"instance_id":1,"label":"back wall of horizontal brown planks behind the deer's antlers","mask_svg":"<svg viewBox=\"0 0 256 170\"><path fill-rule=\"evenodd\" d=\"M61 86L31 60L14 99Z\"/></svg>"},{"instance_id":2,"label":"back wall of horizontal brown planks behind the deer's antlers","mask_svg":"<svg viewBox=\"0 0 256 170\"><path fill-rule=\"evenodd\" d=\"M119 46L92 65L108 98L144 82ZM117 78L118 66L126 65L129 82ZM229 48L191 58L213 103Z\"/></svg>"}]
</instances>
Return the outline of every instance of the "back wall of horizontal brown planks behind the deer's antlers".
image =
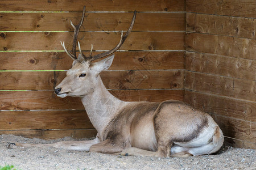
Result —
<instances>
[{"instance_id":1,"label":"back wall of horizontal brown planks behind the deer's antlers","mask_svg":"<svg viewBox=\"0 0 256 170\"><path fill-rule=\"evenodd\" d=\"M96 134L80 99L53 88L72 59L73 29L86 6L79 41L88 54L110 50L120 31L133 31L102 73L110 92L126 101L184 99L185 1L0 1L0 134L44 139ZM98 52L93 52L97 54Z\"/></svg>"}]
</instances>

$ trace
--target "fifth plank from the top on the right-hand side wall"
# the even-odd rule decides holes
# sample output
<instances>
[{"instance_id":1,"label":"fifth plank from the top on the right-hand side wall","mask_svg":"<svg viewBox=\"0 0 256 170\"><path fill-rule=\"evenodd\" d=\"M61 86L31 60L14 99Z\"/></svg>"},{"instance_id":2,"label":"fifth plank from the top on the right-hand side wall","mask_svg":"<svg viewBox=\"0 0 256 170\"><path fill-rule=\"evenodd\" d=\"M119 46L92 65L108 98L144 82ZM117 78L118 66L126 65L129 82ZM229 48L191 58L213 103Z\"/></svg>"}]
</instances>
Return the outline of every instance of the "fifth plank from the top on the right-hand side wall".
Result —
<instances>
[{"instance_id":1,"label":"fifth plank from the top on the right-hand side wall","mask_svg":"<svg viewBox=\"0 0 256 170\"><path fill-rule=\"evenodd\" d=\"M187 71L185 89L256 101L256 82Z\"/></svg>"}]
</instances>

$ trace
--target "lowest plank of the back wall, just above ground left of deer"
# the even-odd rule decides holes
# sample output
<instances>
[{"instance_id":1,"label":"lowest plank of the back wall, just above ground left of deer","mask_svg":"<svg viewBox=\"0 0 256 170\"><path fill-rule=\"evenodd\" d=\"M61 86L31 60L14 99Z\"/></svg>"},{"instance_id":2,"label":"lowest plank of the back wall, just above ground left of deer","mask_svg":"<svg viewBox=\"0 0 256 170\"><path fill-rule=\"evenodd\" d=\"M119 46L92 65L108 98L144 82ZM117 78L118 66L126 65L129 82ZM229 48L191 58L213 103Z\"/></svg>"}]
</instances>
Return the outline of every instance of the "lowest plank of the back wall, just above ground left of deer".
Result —
<instances>
[{"instance_id":1,"label":"lowest plank of the back wall, just above ground left of deer","mask_svg":"<svg viewBox=\"0 0 256 170\"><path fill-rule=\"evenodd\" d=\"M65 130L0 130L0 134L13 134L25 138L59 139L72 137L75 139L96 137L96 129L65 129ZM15 142L15 141L13 141Z\"/></svg>"}]
</instances>

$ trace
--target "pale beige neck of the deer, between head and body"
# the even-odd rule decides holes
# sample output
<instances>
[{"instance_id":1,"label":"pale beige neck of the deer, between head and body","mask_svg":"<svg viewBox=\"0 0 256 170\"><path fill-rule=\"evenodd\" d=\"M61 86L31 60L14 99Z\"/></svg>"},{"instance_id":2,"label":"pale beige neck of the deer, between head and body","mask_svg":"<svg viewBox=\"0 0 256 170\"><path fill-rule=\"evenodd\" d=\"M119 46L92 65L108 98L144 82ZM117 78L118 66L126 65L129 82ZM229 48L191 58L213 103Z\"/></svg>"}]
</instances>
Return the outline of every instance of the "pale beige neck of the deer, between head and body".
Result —
<instances>
[{"instance_id":1,"label":"pale beige neck of the deer, between head and body","mask_svg":"<svg viewBox=\"0 0 256 170\"><path fill-rule=\"evenodd\" d=\"M90 121L99 134L118 113L119 108L125 104L125 101L119 100L110 94L100 75L97 77L97 85L94 87L93 93L83 96L81 100Z\"/></svg>"}]
</instances>

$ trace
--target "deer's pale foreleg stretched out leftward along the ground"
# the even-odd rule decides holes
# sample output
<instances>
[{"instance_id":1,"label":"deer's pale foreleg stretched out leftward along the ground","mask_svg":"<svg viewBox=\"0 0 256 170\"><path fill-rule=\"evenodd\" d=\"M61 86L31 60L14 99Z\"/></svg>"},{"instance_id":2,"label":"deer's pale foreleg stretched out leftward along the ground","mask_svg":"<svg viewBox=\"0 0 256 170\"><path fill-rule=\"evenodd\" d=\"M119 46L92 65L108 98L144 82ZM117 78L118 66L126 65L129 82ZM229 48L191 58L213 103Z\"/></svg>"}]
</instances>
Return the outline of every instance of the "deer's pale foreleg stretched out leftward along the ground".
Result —
<instances>
[{"instance_id":1,"label":"deer's pale foreleg stretched out leftward along the ground","mask_svg":"<svg viewBox=\"0 0 256 170\"><path fill-rule=\"evenodd\" d=\"M70 151L89 151L92 145L100 143L100 139L97 137L90 141L61 141L57 143L49 144L29 144L29 143L15 143L16 146L24 147L55 147L63 148Z\"/></svg>"}]
</instances>

